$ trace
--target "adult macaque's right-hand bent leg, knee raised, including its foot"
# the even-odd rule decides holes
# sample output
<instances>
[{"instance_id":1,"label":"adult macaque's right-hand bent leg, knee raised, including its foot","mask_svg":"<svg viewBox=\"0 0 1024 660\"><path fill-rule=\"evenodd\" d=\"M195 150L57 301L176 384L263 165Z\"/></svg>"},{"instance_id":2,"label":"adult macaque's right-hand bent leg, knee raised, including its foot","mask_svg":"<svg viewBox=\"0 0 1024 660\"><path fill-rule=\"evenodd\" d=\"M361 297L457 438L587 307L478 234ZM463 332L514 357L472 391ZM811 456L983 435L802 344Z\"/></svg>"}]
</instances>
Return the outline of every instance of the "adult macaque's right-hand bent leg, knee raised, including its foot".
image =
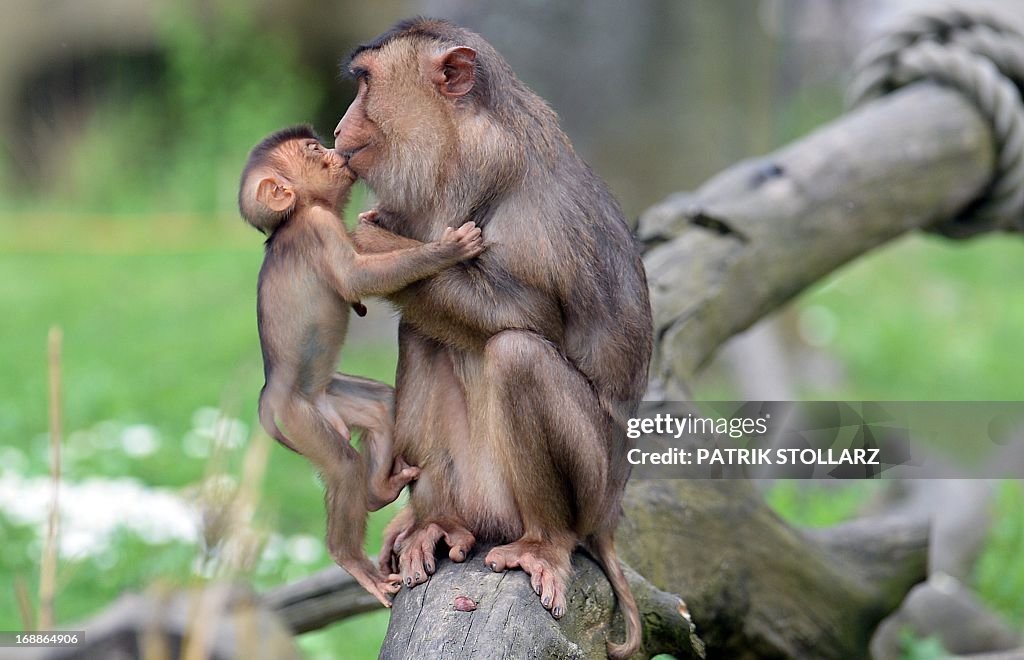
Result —
<instances>
[{"instance_id":1,"label":"adult macaque's right-hand bent leg, knee raised, including its foot","mask_svg":"<svg viewBox=\"0 0 1024 660\"><path fill-rule=\"evenodd\" d=\"M555 618L565 613L570 557L607 519L612 431L583 375L540 336L506 331L484 349L489 437L504 459L523 534L495 547L495 571L521 568Z\"/></svg>"}]
</instances>

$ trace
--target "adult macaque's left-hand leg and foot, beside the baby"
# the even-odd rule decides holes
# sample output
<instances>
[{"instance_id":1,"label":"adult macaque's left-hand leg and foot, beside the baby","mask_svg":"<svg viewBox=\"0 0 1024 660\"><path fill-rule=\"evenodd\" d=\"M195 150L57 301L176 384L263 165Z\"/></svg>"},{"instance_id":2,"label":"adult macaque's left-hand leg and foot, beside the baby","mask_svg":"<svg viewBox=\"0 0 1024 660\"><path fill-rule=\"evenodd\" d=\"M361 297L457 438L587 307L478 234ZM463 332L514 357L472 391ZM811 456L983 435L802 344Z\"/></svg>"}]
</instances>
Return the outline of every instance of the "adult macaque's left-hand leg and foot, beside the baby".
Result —
<instances>
[{"instance_id":1,"label":"adult macaque's left-hand leg and foot, beside the baby","mask_svg":"<svg viewBox=\"0 0 1024 660\"><path fill-rule=\"evenodd\" d=\"M456 514L450 465L453 450L470 451L466 400L442 347L402 323L398 327L398 376L395 388L395 443L422 469L413 484L411 514L385 533L398 557L401 580L421 584L433 574L437 542L444 539L449 558L465 561L475 537Z\"/></svg>"}]
</instances>

